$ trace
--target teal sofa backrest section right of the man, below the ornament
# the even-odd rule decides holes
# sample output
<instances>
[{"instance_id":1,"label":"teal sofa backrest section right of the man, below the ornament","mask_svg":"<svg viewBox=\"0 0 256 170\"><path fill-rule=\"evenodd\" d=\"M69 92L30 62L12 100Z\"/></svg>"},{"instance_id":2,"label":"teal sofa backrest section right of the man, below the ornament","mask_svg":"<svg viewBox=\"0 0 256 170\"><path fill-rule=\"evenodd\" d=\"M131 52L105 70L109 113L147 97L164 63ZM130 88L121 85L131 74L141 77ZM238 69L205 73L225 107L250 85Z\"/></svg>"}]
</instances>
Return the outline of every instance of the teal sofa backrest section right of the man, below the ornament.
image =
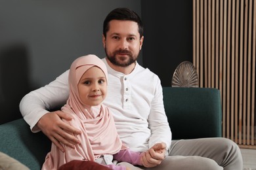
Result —
<instances>
[{"instance_id":1,"label":"teal sofa backrest section right of the man, below the ornament","mask_svg":"<svg viewBox=\"0 0 256 170\"><path fill-rule=\"evenodd\" d=\"M163 103L173 139L221 137L218 89L163 87Z\"/></svg>"}]
</instances>

